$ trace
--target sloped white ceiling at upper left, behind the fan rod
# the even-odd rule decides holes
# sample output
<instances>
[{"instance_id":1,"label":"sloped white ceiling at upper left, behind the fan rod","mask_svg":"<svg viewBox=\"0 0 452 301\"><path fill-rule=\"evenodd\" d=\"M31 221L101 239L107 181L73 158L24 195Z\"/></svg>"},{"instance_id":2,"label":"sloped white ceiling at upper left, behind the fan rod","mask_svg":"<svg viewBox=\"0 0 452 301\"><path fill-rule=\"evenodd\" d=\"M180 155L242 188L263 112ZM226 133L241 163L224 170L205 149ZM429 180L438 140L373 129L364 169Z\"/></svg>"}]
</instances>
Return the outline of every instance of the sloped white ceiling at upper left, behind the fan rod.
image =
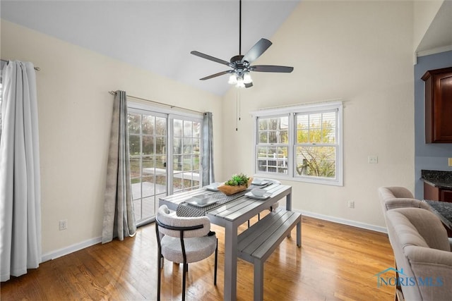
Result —
<instances>
[{"instance_id":1,"label":"sloped white ceiling at upper left, behind the fan rod","mask_svg":"<svg viewBox=\"0 0 452 301\"><path fill-rule=\"evenodd\" d=\"M262 37L271 40L299 1L243 0L242 54ZM133 66L218 95L230 87L227 76L199 80L228 67L190 51L225 61L239 54L239 0L1 0L0 5L5 20Z\"/></svg>"}]
</instances>

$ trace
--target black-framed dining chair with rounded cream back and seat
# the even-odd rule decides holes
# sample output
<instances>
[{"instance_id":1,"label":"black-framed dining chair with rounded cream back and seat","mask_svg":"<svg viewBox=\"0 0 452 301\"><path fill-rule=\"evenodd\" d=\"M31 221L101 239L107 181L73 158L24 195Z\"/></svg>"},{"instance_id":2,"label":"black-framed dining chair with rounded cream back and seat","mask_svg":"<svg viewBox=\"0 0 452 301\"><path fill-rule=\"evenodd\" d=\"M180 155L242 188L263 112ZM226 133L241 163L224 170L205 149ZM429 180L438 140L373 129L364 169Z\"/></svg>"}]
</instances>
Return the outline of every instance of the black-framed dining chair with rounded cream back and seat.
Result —
<instances>
[{"instance_id":1,"label":"black-framed dining chair with rounded cream back and seat","mask_svg":"<svg viewBox=\"0 0 452 301\"><path fill-rule=\"evenodd\" d=\"M157 300L160 301L160 282L163 259L183 264L182 300L185 300L186 273L189 263L199 262L215 252L213 284L217 285L218 238L210 231L207 216L181 217L160 206L155 217L158 245Z\"/></svg>"}]
</instances>

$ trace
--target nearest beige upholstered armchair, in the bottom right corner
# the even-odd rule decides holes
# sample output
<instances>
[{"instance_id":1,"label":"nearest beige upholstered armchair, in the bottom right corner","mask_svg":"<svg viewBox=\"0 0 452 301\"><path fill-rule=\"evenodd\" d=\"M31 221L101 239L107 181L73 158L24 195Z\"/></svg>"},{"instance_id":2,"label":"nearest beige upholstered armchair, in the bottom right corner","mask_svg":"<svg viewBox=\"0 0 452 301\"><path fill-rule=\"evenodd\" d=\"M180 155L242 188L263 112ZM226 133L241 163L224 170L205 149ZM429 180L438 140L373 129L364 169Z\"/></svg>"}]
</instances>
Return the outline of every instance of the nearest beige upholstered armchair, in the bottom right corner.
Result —
<instances>
[{"instance_id":1,"label":"nearest beige upholstered armchair, in the bottom right corner","mask_svg":"<svg viewBox=\"0 0 452 301\"><path fill-rule=\"evenodd\" d=\"M386 211L386 223L403 298L451 300L452 252L439 218L428 210L400 208Z\"/></svg>"}]
</instances>

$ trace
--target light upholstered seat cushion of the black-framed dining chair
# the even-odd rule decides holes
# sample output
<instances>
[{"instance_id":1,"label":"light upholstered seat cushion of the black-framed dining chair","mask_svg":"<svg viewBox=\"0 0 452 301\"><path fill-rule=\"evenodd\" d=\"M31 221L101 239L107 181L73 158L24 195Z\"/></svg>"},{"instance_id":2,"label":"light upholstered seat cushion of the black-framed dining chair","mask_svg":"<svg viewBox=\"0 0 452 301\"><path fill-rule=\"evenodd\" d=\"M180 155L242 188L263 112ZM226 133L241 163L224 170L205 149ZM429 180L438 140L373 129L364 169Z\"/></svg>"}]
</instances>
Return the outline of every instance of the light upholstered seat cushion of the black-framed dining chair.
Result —
<instances>
[{"instance_id":1,"label":"light upholstered seat cushion of the black-framed dining chair","mask_svg":"<svg viewBox=\"0 0 452 301\"><path fill-rule=\"evenodd\" d=\"M162 245L162 255L165 259L179 264L184 262L180 238L173 238L169 235L165 235L160 243ZM217 237L212 235L199 238L184 238L184 245L186 262L199 262L215 252Z\"/></svg>"}]
</instances>

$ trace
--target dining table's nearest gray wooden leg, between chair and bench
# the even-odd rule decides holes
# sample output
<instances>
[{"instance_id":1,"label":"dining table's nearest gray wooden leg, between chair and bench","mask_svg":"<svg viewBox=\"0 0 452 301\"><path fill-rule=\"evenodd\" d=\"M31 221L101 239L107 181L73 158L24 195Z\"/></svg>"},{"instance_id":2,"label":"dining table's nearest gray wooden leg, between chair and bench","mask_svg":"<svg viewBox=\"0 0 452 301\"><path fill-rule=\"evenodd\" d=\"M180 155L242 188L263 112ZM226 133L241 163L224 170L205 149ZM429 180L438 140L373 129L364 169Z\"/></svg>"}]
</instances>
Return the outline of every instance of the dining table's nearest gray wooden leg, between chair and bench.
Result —
<instances>
[{"instance_id":1,"label":"dining table's nearest gray wooden leg, between chair and bench","mask_svg":"<svg viewBox=\"0 0 452 301\"><path fill-rule=\"evenodd\" d=\"M237 299L237 225L225 226L225 288L224 300Z\"/></svg>"}]
</instances>

